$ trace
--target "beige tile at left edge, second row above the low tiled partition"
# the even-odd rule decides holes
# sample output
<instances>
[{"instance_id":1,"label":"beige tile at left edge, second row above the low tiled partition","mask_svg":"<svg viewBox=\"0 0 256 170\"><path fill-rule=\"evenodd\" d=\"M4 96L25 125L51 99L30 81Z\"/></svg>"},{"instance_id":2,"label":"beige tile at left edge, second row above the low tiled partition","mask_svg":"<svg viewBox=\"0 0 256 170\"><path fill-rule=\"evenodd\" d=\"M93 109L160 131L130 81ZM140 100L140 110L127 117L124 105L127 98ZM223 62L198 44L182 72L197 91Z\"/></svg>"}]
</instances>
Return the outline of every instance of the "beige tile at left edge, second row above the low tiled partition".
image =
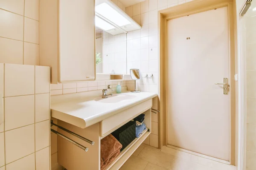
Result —
<instances>
[{"instance_id":1,"label":"beige tile at left edge, second row above the low tiled partition","mask_svg":"<svg viewBox=\"0 0 256 170\"><path fill-rule=\"evenodd\" d=\"M0 37L23 40L23 17L0 9Z\"/></svg>"}]
</instances>

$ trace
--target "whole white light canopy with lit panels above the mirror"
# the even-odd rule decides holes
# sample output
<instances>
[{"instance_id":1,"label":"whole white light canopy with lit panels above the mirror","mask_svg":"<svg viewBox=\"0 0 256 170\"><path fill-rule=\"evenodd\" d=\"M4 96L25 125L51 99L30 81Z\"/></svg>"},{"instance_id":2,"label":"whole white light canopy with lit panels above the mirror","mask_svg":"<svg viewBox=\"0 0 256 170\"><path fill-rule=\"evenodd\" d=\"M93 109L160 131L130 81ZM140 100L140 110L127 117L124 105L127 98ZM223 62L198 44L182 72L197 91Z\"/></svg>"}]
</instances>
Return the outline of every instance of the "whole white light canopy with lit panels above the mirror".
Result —
<instances>
[{"instance_id":1,"label":"whole white light canopy with lit panels above the mirror","mask_svg":"<svg viewBox=\"0 0 256 170\"><path fill-rule=\"evenodd\" d=\"M112 35L141 29L141 26L111 0L96 0L95 25Z\"/></svg>"}]
</instances>

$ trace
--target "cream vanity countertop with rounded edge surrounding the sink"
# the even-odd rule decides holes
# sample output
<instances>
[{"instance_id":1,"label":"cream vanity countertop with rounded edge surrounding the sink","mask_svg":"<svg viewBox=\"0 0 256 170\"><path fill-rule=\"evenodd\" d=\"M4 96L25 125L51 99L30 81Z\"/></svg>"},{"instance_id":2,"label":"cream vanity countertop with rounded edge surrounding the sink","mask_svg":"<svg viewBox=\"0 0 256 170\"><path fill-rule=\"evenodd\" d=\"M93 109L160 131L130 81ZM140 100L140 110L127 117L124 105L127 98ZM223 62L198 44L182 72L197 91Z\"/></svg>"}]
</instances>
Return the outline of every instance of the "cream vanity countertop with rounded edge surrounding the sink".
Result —
<instances>
[{"instance_id":1,"label":"cream vanity countertop with rounded edge surrounding the sink","mask_svg":"<svg viewBox=\"0 0 256 170\"><path fill-rule=\"evenodd\" d=\"M85 128L157 96L157 94L150 92L122 94L131 97L120 102L103 103L93 100L94 96L84 96L84 98L80 96L79 99L73 98L69 101L54 103L51 104L51 116Z\"/></svg>"}]
</instances>

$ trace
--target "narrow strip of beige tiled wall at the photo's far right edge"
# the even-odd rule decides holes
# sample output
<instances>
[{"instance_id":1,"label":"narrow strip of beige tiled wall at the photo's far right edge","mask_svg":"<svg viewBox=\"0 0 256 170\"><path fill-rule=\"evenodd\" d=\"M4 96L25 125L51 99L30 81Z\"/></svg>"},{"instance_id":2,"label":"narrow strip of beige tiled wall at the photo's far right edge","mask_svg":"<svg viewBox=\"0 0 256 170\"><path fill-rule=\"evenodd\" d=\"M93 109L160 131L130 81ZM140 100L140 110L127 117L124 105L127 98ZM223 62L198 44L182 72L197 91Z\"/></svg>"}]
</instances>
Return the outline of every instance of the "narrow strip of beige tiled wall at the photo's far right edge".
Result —
<instances>
[{"instance_id":1,"label":"narrow strip of beige tiled wall at the photo's far right edge","mask_svg":"<svg viewBox=\"0 0 256 170\"><path fill-rule=\"evenodd\" d=\"M247 57L247 145L246 169L256 170L256 2L245 15Z\"/></svg>"}]
</instances>

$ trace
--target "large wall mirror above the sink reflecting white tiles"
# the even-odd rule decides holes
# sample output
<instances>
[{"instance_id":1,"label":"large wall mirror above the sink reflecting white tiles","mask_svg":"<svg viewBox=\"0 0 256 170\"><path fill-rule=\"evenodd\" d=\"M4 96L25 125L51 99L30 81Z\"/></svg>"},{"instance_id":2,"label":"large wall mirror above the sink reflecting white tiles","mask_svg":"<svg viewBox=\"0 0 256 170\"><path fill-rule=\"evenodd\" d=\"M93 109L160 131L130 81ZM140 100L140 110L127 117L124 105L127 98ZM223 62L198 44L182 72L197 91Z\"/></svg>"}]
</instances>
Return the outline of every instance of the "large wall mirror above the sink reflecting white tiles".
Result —
<instances>
[{"instance_id":1,"label":"large wall mirror above the sink reflecting white tiles","mask_svg":"<svg viewBox=\"0 0 256 170\"><path fill-rule=\"evenodd\" d=\"M112 35L96 28L96 73L127 74L125 33Z\"/></svg>"}]
</instances>

